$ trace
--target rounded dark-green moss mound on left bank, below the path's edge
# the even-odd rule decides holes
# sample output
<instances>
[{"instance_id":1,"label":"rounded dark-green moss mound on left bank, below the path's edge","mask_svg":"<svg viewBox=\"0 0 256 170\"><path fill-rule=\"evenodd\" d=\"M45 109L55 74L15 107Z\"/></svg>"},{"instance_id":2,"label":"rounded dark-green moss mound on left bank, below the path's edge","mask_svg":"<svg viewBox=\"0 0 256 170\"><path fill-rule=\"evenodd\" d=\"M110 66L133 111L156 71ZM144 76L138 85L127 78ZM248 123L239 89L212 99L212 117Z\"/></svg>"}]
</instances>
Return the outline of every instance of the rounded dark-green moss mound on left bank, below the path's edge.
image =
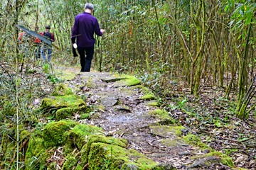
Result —
<instances>
[{"instance_id":1,"label":"rounded dark-green moss mound on left bank, below the path's edge","mask_svg":"<svg viewBox=\"0 0 256 170\"><path fill-rule=\"evenodd\" d=\"M43 140L45 146L53 147L63 144L68 135L67 131L77 124L78 123L63 120L46 125L46 127L43 128Z\"/></svg>"}]
</instances>

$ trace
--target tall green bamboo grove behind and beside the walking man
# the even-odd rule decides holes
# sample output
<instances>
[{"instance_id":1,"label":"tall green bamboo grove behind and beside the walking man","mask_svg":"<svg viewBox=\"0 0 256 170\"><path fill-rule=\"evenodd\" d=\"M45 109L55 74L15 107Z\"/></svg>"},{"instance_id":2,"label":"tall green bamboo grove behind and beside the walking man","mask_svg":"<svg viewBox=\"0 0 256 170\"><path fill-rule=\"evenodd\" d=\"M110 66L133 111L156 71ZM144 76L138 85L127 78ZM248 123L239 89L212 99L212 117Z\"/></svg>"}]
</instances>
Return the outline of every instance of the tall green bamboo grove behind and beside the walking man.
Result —
<instances>
[{"instance_id":1,"label":"tall green bamboo grove behind and beside the walking man","mask_svg":"<svg viewBox=\"0 0 256 170\"><path fill-rule=\"evenodd\" d=\"M74 18L82 13L85 2L4 1L0 61L14 62L14 56L3 54L15 49L15 23L31 29L35 24L41 28L50 24L60 48L55 55L68 60ZM95 69L134 72L156 89L170 89L172 79L181 79L196 96L203 84L219 86L225 89L225 97L237 91L238 106L242 103L255 77L255 1L87 2L95 5L94 16L107 31L96 38ZM6 42L14 42L14 48ZM238 117L246 118L244 112Z\"/></svg>"}]
</instances>

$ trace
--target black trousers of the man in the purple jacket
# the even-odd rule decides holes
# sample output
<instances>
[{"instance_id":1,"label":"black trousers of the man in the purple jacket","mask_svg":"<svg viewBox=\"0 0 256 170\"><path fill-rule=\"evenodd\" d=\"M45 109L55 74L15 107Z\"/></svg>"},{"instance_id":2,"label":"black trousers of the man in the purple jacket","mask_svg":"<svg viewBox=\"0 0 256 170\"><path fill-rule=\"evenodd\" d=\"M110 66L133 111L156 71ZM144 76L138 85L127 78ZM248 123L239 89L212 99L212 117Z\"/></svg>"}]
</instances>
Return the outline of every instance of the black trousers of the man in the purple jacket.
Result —
<instances>
[{"instance_id":1,"label":"black trousers of the man in the purple jacket","mask_svg":"<svg viewBox=\"0 0 256 170\"><path fill-rule=\"evenodd\" d=\"M80 55L81 72L90 72L90 65L92 63L92 57L94 53L94 45L92 47L78 47ZM86 52L86 58L85 58Z\"/></svg>"}]
</instances>

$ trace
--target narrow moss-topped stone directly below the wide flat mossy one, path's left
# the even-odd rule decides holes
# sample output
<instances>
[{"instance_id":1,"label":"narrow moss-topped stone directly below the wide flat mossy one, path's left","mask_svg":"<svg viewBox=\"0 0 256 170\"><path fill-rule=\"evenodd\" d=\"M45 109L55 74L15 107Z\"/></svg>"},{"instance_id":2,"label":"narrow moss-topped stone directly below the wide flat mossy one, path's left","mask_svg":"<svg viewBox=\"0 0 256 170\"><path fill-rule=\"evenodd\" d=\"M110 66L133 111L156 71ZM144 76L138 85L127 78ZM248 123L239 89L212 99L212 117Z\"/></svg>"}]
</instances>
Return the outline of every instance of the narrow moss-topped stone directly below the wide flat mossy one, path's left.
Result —
<instances>
[{"instance_id":1,"label":"narrow moss-topped stone directly below the wide flat mossy one, path's left","mask_svg":"<svg viewBox=\"0 0 256 170\"><path fill-rule=\"evenodd\" d=\"M82 107L76 107L76 108L60 108L58 109L58 111L56 111L55 118L58 121L58 120L63 120L65 118L73 116L75 113L84 114L91 111L92 111L92 108L90 106L82 106Z\"/></svg>"}]
</instances>

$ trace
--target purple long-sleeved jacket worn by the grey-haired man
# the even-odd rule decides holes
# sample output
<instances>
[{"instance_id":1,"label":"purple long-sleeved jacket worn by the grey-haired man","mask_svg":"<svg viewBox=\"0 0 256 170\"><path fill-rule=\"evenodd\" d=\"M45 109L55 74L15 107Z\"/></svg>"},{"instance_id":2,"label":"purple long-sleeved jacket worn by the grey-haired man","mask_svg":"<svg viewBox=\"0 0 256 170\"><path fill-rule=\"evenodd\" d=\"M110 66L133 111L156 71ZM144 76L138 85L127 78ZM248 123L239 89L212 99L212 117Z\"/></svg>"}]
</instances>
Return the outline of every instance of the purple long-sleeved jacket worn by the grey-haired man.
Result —
<instances>
[{"instance_id":1,"label":"purple long-sleeved jacket worn by the grey-haired man","mask_svg":"<svg viewBox=\"0 0 256 170\"><path fill-rule=\"evenodd\" d=\"M97 18L90 13L80 13L75 16L75 23L72 30L72 43L77 39L78 47L92 47L95 44L93 33L102 36ZM75 36L78 35L78 36Z\"/></svg>"}]
</instances>

